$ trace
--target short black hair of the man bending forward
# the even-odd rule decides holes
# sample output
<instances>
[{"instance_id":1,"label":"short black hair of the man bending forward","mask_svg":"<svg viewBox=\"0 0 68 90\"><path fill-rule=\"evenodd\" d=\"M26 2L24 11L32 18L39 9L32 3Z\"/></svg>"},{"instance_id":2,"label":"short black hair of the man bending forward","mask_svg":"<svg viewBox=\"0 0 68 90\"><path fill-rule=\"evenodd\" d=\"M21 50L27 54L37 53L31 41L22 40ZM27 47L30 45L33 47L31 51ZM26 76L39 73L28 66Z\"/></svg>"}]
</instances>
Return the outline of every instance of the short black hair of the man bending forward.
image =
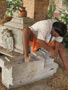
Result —
<instances>
[{"instance_id":1,"label":"short black hair of the man bending forward","mask_svg":"<svg viewBox=\"0 0 68 90\"><path fill-rule=\"evenodd\" d=\"M62 22L54 22L53 23L53 27L55 29L55 31L60 35L60 36L64 36L67 32L67 25L62 23Z\"/></svg>"}]
</instances>

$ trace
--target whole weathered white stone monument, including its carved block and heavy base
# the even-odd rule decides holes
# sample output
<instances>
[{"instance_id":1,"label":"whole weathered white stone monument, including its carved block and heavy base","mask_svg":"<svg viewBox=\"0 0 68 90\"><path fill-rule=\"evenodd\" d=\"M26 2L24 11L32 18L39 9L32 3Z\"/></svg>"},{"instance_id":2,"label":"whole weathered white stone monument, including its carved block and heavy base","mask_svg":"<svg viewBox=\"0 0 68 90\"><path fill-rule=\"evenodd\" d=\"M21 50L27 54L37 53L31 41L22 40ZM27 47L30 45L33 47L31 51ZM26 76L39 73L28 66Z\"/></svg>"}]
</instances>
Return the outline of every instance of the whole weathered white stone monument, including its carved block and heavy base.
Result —
<instances>
[{"instance_id":1,"label":"whole weathered white stone monument, including its carved block and heavy base","mask_svg":"<svg viewBox=\"0 0 68 90\"><path fill-rule=\"evenodd\" d=\"M28 17L18 17L14 14L12 20L0 25L0 67L2 68L2 83L7 88L21 85L53 76L58 65L50 58L48 52L31 53L32 61L26 63L23 57L23 29L34 21Z\"/></svg>"}]
</instances>

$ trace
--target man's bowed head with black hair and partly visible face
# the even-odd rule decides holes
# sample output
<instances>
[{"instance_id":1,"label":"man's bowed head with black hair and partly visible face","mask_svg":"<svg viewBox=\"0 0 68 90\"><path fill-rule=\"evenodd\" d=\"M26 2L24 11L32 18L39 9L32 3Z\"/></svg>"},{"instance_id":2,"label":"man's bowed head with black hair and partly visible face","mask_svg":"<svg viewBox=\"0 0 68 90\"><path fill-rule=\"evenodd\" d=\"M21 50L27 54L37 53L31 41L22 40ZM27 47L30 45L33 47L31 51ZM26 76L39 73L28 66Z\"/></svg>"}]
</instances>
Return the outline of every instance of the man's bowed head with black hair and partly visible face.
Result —
<instances>
[{"instance_id":1,"label":"man's bowed head with black hair and partly visible face","mask_svg":"<svg viewBox=\"0 0 68 90\"><path fill-rule=\"evenodd\" d=\"M63 37L66 34L66 32L67 32L66 24L58 21L53 23L52 34L54 36Z\"/></svg>"}]
</instances>

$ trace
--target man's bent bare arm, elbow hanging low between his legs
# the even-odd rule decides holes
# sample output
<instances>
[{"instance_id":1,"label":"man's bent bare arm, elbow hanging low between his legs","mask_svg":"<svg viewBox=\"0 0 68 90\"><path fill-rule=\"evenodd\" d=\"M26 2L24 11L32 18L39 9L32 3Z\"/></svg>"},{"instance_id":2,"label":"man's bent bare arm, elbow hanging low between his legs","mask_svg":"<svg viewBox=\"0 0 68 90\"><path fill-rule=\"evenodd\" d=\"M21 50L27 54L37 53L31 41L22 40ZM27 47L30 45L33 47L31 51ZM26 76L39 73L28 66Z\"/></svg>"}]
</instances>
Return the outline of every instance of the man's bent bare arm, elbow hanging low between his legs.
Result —
<instances>
[{"instance_id":1,"label":"man's bent bare arm, elbow hanging low between his legs","mask_svg":"<svg viewBox=\"0 0 68 90\"><path fill-rule=\"evenodd\" d=\"M51 56L52 57L56 57L57 54L58 54L58 48L59 48L59 42L56 42L55 41L55 47L50 47L48 46L48 44L43 41L43 40L40 40L40 39L37 39L37 43L38 45L41 47L41 48L44 48L46 49L48 52L50 52Z\"/></svg>"}]
</instances>

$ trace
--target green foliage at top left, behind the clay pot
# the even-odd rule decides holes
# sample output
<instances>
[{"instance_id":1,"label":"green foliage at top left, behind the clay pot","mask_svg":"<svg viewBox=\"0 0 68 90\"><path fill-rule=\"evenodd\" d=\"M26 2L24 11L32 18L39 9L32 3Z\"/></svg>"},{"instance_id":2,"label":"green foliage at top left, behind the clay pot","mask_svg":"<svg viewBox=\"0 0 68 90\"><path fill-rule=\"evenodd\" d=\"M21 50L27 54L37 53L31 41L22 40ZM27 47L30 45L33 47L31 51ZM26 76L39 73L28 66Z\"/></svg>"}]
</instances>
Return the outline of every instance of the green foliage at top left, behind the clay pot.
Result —
<instances>
[{"instance_id":1,"label":"green foliage at top left, behind the clay pot","mask_svg":"<svg viewBox=\"0 0 68 90\"><path fill-rule=\"evenodd\" d=\"M13 13L22 6L21 0L7 0L7 11L6 14L8 16L12 16Z\"/></svg>"}]
</instances>

